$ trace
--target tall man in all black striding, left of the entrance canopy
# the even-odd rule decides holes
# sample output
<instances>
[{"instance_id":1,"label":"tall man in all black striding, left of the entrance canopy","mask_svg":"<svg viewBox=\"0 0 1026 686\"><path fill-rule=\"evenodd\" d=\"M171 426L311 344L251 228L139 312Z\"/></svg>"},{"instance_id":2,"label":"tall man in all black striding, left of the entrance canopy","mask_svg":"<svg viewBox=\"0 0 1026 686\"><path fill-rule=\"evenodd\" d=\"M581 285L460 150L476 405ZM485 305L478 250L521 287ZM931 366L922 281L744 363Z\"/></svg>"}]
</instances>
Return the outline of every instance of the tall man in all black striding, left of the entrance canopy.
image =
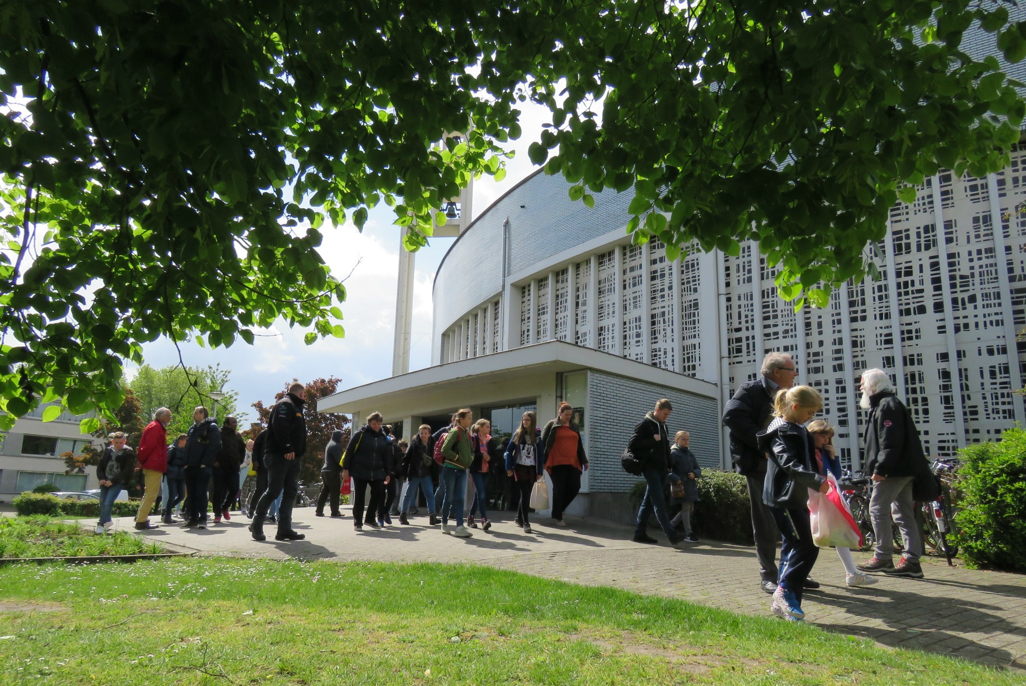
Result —
<instances>
[{"instance_id":1,"label":"tall man in all black striding, left of the entrance canopy","mask_svg":"<svg viewBox=\"0 0 1026 686\"><path fill-rule=\"evenodd\" d=\"M306 390L299 381L288 387L281 400L271 408L271 421L264 443L264 468L267 490L256 502L249 530L253 540L267 540L264 520L267 511L281 493L278 507L278 532L275 540L302 540L305 534L292 530L292 507L299 490L300 457L307 451L307 422L303 417Z\"/></svg>"}]
</instances>

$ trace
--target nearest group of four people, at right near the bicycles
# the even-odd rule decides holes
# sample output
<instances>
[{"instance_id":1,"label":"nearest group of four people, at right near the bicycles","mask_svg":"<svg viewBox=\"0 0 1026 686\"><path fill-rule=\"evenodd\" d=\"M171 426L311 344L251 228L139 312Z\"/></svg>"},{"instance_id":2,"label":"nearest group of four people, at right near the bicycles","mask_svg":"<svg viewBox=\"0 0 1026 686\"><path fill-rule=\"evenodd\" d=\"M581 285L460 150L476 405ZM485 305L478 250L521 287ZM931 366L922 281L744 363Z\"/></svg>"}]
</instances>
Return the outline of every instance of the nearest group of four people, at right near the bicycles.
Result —
<instances>
[{"instance_id":1,"label":"nearest group of four people, at right near the bicycles","mask_svg":"<svg viewBox=\"0 0 1026 686\"><path fill-rule=\"evenodd\" d=\"M827 492L828 475L841 476L831 439L834 429L814 419L823 407L816 389L795 386L798 369L786 353L771 353L759 377L743 384L726 404L723 423L731 435L735 469L745 476L760 586L772 594L771 611L789 620L804 618L802 592L818 589L810 572L819 555L807 508L811 491ZM837 555L849 587L875 583L870 573L922 578L922 537L915 522L913 483L929 474L911 412L881 369L862 374L860 407L869 411L863 437L864 470L874 486L870 497L874 554L856 565L847 549ZM894 563L893 526L904 541ZM777 543L781 542L780 564Z\"/></svg>"}]
</instances>

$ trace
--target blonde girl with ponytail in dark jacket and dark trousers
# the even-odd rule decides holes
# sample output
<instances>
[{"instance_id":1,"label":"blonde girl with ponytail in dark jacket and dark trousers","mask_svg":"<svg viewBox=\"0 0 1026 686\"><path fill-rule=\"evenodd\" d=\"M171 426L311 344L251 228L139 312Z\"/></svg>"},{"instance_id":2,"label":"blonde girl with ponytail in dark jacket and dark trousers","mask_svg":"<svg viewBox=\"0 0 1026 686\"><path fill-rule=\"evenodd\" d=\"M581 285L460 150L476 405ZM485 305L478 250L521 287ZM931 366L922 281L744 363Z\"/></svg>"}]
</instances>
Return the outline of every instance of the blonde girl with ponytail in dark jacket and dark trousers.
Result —
<instances>
[{"instance_id":1,"label":"blonde girl with ponytail in dark jacket and dark trousers","mask_svg":"<svg viewBox=\"0 0 1026 686\"><path fill-rule=\"evenodd\" d=\"M801 621L801 590L816 564L820 549L813 542L808 521L810 488L825 493L826 478L816 470L813 439L804 425L823 407L816 389L781 389L774 399L774 416L758 434L759 450L767 453L762 501L770 508L783 538L780 575L770 609L791 621Z\"/></svg>"}]
</instances>

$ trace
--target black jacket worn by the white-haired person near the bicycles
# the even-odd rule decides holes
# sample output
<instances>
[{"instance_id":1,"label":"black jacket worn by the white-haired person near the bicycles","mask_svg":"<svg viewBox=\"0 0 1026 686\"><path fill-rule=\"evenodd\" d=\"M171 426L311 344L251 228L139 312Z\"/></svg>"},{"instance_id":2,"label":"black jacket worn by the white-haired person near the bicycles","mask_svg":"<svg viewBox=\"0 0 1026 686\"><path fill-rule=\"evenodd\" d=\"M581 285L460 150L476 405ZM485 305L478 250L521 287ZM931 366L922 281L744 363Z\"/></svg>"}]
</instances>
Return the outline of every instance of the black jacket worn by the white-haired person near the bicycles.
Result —
<instances>
[{"instance_id":1,"label":"black jacket worn by the white-haired person near the bicycles","mask_svg":"<svg viewBox=\"0 0 1026 686\"><path fill-rule=\"evenodd\" d=\"M905 404L891 391L869 397L866 474L881 477L914 477L928 469L919 432Z\"/></svg>"}]
</instances>

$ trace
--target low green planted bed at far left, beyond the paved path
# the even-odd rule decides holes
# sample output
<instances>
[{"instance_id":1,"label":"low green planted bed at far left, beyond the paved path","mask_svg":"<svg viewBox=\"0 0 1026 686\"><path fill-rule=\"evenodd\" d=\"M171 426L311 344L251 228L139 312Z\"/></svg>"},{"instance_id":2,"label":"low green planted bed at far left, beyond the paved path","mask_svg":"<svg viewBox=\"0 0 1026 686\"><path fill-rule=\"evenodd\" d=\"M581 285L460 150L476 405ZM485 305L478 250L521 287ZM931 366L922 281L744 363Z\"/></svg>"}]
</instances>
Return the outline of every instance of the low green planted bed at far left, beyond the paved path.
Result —
<instances>
[{"instance_id":1,"label":"low green planted bed at far left, beyond the paved path","mask_svg":"<svg viewBox=\"0 0 1026 686\"><path fill-rule=\"evenodd\" d=\"M164 547L118 531L94 534L79 524L49 517L0 517L0 558L48 558L97 555L154 555Z\"/></svg>"}]
</instances>

